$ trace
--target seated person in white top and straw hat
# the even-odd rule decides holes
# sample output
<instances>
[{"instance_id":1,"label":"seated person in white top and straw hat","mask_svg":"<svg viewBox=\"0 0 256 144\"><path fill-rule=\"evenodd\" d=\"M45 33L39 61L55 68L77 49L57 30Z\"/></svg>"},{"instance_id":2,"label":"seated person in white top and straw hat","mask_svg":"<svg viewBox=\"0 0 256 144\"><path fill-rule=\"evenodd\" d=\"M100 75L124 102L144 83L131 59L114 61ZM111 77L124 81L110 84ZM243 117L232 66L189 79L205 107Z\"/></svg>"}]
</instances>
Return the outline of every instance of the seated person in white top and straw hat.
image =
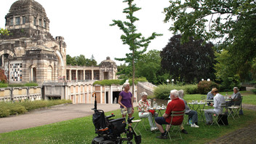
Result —
<instances>
[{"instance_id":1,"label":"seated person in white top and straw hat","mask_svg":"<svg viewBox=\"0 0 256 144\"><path fill-rule=\"evenodd\" d=\"M225 98L223 97L223 95L220 95L219 91L216 88L212 89L212 94L215 95L215 97L213 97L214 104L211 103L209 105L213 106L214 108L204 111L204 116L207 121L206 124L212 124L212 113L222 113L223 109L221 108L221 104L225 103Z\"/></svg>"}]
</instances>

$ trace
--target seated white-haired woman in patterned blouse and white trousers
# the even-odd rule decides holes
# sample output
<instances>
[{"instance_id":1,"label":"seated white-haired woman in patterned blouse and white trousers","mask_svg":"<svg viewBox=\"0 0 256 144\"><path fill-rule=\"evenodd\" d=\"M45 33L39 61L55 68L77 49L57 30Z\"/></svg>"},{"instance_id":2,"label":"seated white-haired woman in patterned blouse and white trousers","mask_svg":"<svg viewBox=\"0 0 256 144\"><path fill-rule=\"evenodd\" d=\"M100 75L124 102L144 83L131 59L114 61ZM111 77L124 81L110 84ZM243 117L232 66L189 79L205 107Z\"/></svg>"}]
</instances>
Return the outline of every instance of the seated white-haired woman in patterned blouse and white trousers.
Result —
<instances>
[{"instance_id":1,"label":"seated white-haired woman in patterned blouse and white trousers","mask_svg":"<svg viewBox=\"0 0 256 144\"><path fill-rule=\"evenodd\" d=\"M153 116L150 111L148 111L148 107L150 103L148 103L148 94L147 92L142 92L140 94L141 100L138 102L138 111L140 118L148 118L149 124L151 126L151 131L156 130L156 124L153 124Z\"/></svg>"}]
</instances>

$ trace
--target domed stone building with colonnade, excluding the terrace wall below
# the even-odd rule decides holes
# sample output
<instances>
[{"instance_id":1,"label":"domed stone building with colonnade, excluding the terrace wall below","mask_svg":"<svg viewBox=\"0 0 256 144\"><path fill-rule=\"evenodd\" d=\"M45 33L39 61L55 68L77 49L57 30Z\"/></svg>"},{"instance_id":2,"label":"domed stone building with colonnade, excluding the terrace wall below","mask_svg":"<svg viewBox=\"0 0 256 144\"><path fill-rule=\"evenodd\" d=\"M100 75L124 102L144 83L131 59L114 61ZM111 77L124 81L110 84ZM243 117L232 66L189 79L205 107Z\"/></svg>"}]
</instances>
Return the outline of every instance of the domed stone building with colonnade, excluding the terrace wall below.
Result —
<instances>
[{"instance_id":1,"label":"domed stone building with colonnade, excluding the terrace wall below","mask_svg":"<svg viewBox=\"0 0 256 144\"><path fill-rule=\"evenodd\" d=\"M64 38L49 33L49 19L38 2L15 1L5 19L10 32L0 36L0 68L9 83L117 79L110 57L99 66L66 65Z\"/></svg>"}]
</instances>

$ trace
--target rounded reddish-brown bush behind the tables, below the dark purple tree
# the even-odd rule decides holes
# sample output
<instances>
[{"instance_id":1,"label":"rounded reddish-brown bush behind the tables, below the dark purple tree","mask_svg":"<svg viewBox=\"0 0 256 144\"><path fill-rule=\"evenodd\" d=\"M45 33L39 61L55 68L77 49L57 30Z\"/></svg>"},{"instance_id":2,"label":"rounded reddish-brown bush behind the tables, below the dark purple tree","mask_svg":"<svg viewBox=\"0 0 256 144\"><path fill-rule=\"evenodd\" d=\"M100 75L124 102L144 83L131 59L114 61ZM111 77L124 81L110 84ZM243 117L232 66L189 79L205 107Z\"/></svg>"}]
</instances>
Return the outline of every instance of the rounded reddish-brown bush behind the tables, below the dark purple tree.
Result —
<instances>
[{"instance_id":1,"label":"rounded reddish-brown bush behind the tables, below the dark purple tree","mask_svg":"<svg viewBox=\"0 0 256 144\"><path fill-rule=\"evenodd\" d=\"M218 84L216 84L214 81L199 81L197 90L199 94L206 95L212 89L212 87L219 89Z\"/></svg>"}]
</instances>

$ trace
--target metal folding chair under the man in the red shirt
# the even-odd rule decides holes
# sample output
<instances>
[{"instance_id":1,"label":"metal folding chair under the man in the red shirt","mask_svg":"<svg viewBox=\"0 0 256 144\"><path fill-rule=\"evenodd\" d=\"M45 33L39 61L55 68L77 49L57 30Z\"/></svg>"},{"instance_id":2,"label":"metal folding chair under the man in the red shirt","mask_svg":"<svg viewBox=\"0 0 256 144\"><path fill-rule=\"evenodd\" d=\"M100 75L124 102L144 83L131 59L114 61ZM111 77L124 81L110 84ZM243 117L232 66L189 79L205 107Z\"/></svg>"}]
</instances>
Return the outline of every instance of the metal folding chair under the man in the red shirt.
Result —
<instances>
[{"instance_id":1,"label":"metal folding chair under the man in the red shirt","mask_svg":"<svg viewBox=\"0 0 256 144\"><path fill-rule=\"evenodd\" d=\"M184 114L185 114L185 110L184 111L172 111L172 113L171 113L171 116L172 116L172 119L173 119L173 117L175 117L175 116L184 116ZM175 129L176 129L176 135L177 135L177 133L179 133L180 134L180 126L183 124L183 122L181 123L181 124L179 124L179 125L172 125L172 119L171 119L171 122L167 125L167 133L168 133L168 135L169 135L169 140L172 140L172 137L170 136L170 134L169 134L169 129L172 127L172 132L174 132L175 131ZM183 119L184 120L184 119ZM183 137L181 136L181 134L180 134L180 138L176 138L175 140L177 140L177 139L183 139ZM173 139L174 140L174 139Z\"/></svg>"}]
</instances>

